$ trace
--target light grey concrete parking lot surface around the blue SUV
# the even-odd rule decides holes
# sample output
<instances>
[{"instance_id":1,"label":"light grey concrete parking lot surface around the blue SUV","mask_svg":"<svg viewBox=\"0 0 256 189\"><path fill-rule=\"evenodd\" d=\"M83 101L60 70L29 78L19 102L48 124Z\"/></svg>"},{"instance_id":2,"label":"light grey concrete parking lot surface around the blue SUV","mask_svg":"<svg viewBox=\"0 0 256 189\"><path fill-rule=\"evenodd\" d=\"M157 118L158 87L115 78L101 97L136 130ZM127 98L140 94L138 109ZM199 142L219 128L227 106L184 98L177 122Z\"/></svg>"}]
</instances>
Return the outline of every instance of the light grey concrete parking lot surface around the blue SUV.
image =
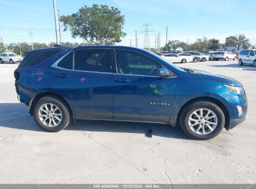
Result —
<instances>
[{"instance_id":1,"label":"light grey concrete parking lot surface around the blue SUV","mask_svg":"<svg viewBox=\"0 0 256 189\"><path fill-rule=\"evenodd\" d=\"M242 82L246 121L210 141L128 122L78 121L45 132L17 100L17 64L0 65L0 183L256 183L256 68L234 61L177 65Z\"/></svg>"}]
</instances>

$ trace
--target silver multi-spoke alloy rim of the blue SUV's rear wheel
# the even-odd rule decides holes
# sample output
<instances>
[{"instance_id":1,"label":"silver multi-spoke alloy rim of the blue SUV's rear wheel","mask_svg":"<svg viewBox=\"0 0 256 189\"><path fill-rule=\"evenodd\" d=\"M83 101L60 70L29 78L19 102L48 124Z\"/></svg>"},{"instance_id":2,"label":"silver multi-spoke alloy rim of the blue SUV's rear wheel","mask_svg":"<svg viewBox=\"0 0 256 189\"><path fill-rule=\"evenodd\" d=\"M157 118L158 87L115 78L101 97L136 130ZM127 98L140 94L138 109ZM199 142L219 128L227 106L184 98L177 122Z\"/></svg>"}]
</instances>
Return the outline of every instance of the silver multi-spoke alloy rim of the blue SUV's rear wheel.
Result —
<instances>
[{"instance_id":1,"label":"silver multi-spoke alloy rim of the blue SUV's rear wheel","mask_svg":"<svg viewBox=\"0 0 256 189\"><path fill-rule=\"evenodd\" d=\"M47 127L59 126L62 121L62 111L53 103L42 104L39 108L39 119Z\"/></svg>"}]
</instances>

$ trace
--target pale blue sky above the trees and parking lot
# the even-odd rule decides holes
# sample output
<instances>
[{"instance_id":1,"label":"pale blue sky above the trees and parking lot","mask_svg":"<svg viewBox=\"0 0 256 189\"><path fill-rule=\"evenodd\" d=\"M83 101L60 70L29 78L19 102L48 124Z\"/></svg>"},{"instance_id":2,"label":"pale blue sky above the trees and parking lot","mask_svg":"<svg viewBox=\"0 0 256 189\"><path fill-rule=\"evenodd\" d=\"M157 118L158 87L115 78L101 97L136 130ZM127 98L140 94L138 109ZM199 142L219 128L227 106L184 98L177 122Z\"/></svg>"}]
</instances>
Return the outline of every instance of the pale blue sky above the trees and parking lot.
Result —
<instances>
[{"instance_id":1,"label":"pale blue sky above the trees and parking lot","mask_svg":"<svg viewBox=\"0 0 256 189\"><path fill-rule=\"evenodd\" d=\"M56 0L60 15L77 12L84 5L107 4L118 7L125 15L126 37L120 45L135 45L135 30L142 31L145 23L150 30L161 33L161 44L168 40L189 43L197 38L216 38L225 41L229 35L245 34L251 44L256 45L256 1L235 0ZM34 42L55 41L54 9L52 0L0 0L0 37L5 44L30 42L29 31ZM149 36L154 47L154 35ZM144 34L138 34L139 47L143 47ZM62 41L82 42L73 39L70 32L62 32Z\"/></svg>"}]
</instances>

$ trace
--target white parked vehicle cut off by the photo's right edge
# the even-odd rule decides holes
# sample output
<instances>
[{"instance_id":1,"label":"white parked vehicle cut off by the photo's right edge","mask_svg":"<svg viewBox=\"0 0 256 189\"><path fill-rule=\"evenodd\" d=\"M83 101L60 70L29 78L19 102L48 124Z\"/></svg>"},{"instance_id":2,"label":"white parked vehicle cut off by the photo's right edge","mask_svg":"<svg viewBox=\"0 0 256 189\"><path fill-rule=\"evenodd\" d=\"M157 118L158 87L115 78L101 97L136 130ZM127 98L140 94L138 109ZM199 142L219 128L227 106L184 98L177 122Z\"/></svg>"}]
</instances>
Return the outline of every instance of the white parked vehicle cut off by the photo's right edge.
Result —
<instances>
[{"instance_id":1,"label":"white parked vehicle cut off by the photo's right edge","mask_svg":"<svg viewBox=\"0 0 256 189\"><path fill-rule=\"evenodd\" d=\"M252 64L256 67L256 49L241 50L238 56L239 65Z\"/></svg>"}]
</instances>

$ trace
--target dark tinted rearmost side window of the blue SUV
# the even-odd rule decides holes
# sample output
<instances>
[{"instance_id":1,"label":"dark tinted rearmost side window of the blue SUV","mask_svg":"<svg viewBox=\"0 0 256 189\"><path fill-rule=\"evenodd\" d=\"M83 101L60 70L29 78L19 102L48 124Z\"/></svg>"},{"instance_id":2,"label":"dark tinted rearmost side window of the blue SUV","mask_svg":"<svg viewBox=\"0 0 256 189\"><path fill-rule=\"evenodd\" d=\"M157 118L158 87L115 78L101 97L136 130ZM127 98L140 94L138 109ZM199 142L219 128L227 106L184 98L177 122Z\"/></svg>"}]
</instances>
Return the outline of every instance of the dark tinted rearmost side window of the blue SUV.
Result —
<instances>
[{"instance_id":1,"label":"dark tinted rearmost side window of the blue SUV","mask_svg":"<svg viewBox=\"0 0 256 189\"><path fill-rule=\"evenodd\" d=\"M38 65L39 63L44 62L44 60L52 57L58 52L60 52L60 50L27 52L24 59L19 64L18 68L32 67Z\"/></svg>"}]
</instances>

